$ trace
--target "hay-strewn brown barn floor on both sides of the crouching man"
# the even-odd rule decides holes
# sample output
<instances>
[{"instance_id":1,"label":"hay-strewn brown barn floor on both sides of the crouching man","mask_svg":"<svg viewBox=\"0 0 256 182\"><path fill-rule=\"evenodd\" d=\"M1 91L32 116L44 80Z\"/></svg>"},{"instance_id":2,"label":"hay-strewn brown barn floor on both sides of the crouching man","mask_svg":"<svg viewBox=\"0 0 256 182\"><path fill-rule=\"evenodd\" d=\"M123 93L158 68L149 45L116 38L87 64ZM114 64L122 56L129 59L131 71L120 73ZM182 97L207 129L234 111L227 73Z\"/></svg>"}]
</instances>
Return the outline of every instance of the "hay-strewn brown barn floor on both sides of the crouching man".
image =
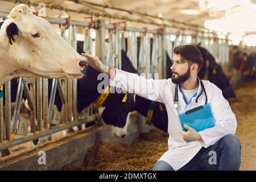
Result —
<instances>
[{"instance_id":1,"label":"hay-strewn brown barn floor on both sides of the crouching man","mask_svg":"<svg viewBox=\"0 0 256 182\"><path fill-rule=\"evenodd\" d=\"M256 81L241 84L236 95L229 103L237 117L236 135L242 144L240 170L256 170ZM100 142L89 148L82 166L67 164L63 170L151 170L167 150L167 139L168 134L151 130L130 146Z\"/></svg>"}]
</instances>

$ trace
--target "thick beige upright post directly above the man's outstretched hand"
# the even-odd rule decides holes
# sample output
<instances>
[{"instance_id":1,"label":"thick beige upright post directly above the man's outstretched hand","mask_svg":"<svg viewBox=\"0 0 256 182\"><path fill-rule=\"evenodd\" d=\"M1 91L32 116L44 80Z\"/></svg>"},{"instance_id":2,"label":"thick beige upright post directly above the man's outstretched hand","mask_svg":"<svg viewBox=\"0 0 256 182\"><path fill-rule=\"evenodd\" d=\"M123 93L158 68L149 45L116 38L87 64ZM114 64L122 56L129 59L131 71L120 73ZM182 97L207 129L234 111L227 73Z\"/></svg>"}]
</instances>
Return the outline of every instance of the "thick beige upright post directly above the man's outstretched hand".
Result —
<instances>
[{"instance_id":1,"label":"thick beige upright post directly above the man's outstretched hand","mask_svg":"<svg viewBox=\"0 0 256 182\"><path fill-rule=\"evenodd\" d=\"M96 34L96 56L102 61L103 64L106 64L105 60L105 21L104 19L99 19L97 21L99 28Z\"/></svg>"}]
</instances>

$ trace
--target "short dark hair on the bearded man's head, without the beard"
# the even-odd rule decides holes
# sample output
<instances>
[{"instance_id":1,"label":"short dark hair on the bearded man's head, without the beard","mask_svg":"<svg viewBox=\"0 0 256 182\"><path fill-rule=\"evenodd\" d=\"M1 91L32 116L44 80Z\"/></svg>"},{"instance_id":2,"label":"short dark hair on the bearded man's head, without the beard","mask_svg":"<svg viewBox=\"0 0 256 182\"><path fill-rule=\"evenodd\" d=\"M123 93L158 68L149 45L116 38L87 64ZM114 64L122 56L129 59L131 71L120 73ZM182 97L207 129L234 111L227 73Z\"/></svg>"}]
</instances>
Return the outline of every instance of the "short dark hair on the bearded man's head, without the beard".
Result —
<instances>
[{"instance_id":1,"label":"short dark hair on the bearded man's head, without the beard","mask_svg":"<svg viewBox=\"0 0 256 182\"><path fill-rule=\"evenodd\" d=\"M197 64L197 72L199 72L200 68L203 65L203 56L196 46L193 46L191 44L177 46L174 48L174 53L175 55L180 55L181 63L185 63L185 61L188 61L188 65L191 65L192 63Z\"/></svg>"}]
</instances>

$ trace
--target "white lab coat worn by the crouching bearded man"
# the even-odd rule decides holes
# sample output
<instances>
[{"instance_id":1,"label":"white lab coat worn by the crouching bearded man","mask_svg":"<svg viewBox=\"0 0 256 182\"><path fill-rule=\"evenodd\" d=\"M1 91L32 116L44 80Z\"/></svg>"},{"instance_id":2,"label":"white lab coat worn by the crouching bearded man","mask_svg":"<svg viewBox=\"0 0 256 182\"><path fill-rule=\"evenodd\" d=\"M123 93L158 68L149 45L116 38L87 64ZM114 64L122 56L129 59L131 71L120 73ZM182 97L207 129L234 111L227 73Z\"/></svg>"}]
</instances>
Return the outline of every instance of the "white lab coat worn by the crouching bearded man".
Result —
<instances>
[{"instance_id":1,"label":"white lab coat worn by the crouching bearded man","mask_svg":"<svg viewBox=\"0 0 256 182\"><path fill-rule=\"evenodd\" d=\"M168 151L159 160L164 160L175 170L187 164L199 152L201 147L209 147L225 135L236 133L236 116L232 112L229 102L222 96L221 90L211 82L203 80L208 103L211 103L213 115L216 119L216 126L199 131L203 140L187 143L179 133L181 126L177 115L186 110L204 105L205 94L201 94L197 103L196 97L193 97L190 104L188 102L188 105L186 105L183 94L178 89L179 105L181 107L176 110L174 108L175 84L172 83L171 78L168 80L153 80L119 69L115 69L115 71L116 75L113 80L110 80L110 85L126 90L129 93L138 94L138 96L149 100L165 104L168 114ZM197 95L200 92L201 85L199 85Z\"/></svg>"}]
</instances>

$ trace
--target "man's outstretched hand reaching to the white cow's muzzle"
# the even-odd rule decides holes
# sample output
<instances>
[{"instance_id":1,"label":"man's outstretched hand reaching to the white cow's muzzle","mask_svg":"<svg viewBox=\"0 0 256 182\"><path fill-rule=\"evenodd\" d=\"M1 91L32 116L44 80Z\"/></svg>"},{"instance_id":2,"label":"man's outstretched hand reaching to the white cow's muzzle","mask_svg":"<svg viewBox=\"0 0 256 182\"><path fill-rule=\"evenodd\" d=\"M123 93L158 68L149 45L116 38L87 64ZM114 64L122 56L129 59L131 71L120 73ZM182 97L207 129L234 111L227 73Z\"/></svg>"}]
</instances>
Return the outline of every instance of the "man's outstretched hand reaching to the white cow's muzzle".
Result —
<instances>
[{"instance_id":1,"label":"man's outstretched hand reaching to the white cow's muzzle","mask_svg":"<svg viewBox=\"0 0 256 182\"><path fill-rule=\"evenodd\" d=\"M92 55L89 55L88 53L82 53L82 56L84 56L87 60L87 63L93 67L94 69L97 69L98 71L102 73L107 73L109 71L109 67L104 65L98 57L93 57Z\"/></svg>"}]
</instances>

